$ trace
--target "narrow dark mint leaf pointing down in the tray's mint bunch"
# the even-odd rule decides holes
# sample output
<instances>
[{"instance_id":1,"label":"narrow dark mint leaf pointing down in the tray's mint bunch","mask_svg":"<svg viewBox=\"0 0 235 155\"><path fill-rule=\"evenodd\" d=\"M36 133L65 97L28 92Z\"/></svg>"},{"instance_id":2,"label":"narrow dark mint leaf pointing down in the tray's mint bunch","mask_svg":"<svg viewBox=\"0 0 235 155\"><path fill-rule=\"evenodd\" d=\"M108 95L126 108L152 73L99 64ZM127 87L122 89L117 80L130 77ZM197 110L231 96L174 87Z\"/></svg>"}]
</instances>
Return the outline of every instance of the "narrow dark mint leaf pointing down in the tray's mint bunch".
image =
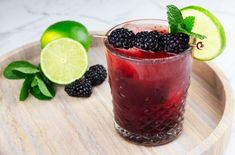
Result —
<instances>
[{"instance_id":1,"label":"narrow dark mint leaf pointing down in the tray's mint bunch","mask_svg":"<svg viewBox=\"0 0 235 155\"><path fill-rule=\"evenodd\" d=\"M19 96L20 101L24 101L28 97L29 91L30 91L30 84L31 84L32 80L33 80L32 77L27 77L24 80L24 83L23 83L22 88L20 90L20 96Z\"/></svg>"}]
</instances>

